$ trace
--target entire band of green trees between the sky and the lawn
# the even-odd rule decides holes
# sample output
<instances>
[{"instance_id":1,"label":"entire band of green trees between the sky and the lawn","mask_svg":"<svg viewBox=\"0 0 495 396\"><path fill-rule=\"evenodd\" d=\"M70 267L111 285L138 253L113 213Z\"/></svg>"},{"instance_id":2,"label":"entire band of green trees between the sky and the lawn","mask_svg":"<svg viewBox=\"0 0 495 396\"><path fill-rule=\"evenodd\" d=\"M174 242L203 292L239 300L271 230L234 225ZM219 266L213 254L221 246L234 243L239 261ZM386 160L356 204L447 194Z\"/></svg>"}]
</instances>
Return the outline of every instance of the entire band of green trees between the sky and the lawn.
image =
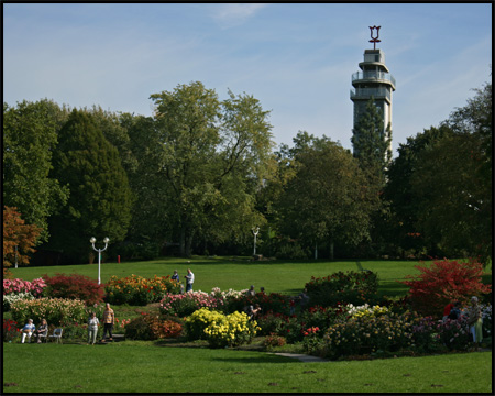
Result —
<instances>
[{"instance_id":1,"label":"entire band of green trees between the sky and the lawn","mask_svg":"<svg viewBox=\"0 0 495 396\"><path fill-rule=\"evenodd\" d=\"M488 262L492 85L474 91L392 162L392 131L373 98L354 155L308 132L274 152L271 112L257 99L229 90L221 100L200 81L153 94L152 117L4 103L3 201L40 231L38 250L70 263L86 262L90 237L109 237L108 254L127 258L170 245L182 255L248 254L253 227L270 255L307 257L319 245L332 257L334 245L340 256Z\"/></svg>"}]
</instances>

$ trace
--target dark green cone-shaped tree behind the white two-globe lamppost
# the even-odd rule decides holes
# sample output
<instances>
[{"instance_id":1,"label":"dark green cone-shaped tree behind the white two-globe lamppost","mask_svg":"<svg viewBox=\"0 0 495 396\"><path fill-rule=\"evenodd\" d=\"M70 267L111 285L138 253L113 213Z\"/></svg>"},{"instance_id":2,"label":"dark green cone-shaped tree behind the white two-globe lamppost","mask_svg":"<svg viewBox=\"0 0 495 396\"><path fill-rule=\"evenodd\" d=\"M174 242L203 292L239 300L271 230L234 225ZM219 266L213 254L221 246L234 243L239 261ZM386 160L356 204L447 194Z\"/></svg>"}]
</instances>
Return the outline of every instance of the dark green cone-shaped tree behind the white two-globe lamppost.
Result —
<instances>
[{"instance_id":1,"label":"dark green cone-shaped tree behind the white two-globe lamppost","mask_svg":"<svg viewBox=\"0 0 495 396\"><path fill-rule=\"evenodd\" d=\"M121 241L130 221L131 191L119 153L103 136L94 118L73 110L58 136L51 175L70 196L59 213L50 218L52 238L46 249L84 262L91 251L89 238Z\"/></svg>"}]
</instances>

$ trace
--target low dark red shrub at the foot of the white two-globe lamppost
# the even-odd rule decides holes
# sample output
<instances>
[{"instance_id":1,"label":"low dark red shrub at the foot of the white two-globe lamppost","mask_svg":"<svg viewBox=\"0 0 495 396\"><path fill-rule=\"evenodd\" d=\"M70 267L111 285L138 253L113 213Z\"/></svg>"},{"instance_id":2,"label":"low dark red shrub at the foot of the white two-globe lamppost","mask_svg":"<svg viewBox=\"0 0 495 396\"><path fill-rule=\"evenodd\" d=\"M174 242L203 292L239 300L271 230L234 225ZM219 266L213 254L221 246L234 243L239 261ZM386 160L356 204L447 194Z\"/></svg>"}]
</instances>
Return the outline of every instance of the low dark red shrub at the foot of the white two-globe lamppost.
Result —
<instances>
[{"instance_id":1,"label":"low dark red shrub at the foot of the white two-globe lamppost","mask_svg":"<svg viewBox=\"0 0 495 396\"><path fill-rule=\"evenodd\" d=\"M86 305L100 304L103 301L105 285L89 276L79 274L55 274L55 276L43 275L47 288L45 294L53 298L78 298Z\"/></svg>"}]
</instances>

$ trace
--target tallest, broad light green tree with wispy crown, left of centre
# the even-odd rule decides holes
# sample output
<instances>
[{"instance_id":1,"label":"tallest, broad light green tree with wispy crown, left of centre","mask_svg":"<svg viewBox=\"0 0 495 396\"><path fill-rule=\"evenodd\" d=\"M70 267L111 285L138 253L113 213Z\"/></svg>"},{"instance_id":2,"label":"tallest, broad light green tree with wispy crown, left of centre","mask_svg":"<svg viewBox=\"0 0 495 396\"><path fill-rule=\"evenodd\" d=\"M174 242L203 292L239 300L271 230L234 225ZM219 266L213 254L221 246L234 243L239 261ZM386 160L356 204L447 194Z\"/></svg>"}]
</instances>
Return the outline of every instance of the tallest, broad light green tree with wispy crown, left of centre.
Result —
<instances>
[{"instance_id":1,"label":"tallest, broad light green tree with wispy crown, left of centre","mask_svg":"<svg viewBox=\"0 0 495 396\"><path fill-rule=\"evenodd\" d=\"M199 235L223 240L239 235L246 219L262 221L253 195L273 143L268 112L260 102L232 92L220 101L199 81L151 98L162 150L160 174L167 184L162 205L178 232L180 253L190 255Z\"/></svg>"}]
</instances>

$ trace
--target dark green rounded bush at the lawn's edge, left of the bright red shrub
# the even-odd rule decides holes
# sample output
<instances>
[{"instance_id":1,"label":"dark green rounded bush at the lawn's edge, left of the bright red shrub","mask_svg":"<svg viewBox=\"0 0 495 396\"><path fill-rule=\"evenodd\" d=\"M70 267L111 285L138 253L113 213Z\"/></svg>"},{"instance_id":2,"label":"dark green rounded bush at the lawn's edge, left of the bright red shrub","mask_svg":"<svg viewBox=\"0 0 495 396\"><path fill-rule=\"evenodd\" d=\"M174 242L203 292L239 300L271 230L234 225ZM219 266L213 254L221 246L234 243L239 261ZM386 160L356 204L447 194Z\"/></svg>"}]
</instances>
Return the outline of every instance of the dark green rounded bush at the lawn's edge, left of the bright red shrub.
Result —
<instances>
[{"instance_id":1,"label":"dark green rounded bush at the lawn's edge, left of the bright red shrub","mask_svg":"<svg viewBox=\"0 0 495 396\"><path fill-rule=\"evenodd\" d=\"M338 272L315 278L305 286L311 306L332 307L338 304L360 306L376 299L378 276L372 271Z\"/></svg>"}]
</instances>

